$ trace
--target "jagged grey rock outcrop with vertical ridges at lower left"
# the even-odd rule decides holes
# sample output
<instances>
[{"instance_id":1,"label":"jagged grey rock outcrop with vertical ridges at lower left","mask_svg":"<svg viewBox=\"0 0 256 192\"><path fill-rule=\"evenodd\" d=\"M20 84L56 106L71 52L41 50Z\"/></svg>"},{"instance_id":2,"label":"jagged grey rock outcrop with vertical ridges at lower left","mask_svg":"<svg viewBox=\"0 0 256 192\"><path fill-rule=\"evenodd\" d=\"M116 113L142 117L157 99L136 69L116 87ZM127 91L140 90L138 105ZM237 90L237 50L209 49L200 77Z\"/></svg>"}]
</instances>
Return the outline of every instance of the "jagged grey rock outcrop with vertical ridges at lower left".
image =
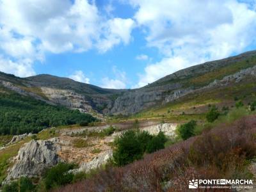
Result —
<instances>
[{"instance_id":1,"label":"jagged grey rock outcrop with vertical ridges at lower left","mask_svg":"<svg viewBox=\"0 0 256 192\"><path fill-rule=\"evenodd\" d=\"M15 164L8 171L5 182L22 176L40 175L45 168L54 166L61 161L57 154L59 150L60 145L54 144L52 141L29 141L20 148L14 159Z\"/></svg>"}]
</instances>

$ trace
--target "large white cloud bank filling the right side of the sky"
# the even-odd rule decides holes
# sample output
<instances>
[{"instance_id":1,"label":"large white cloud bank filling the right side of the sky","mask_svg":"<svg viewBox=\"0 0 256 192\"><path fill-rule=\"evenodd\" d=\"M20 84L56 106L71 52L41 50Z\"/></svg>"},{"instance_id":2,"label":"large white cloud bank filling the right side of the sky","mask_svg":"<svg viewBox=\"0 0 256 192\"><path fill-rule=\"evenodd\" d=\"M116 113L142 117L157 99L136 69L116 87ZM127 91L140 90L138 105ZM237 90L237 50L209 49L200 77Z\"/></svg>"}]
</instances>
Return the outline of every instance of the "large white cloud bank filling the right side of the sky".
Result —
<instances>
[{"instance_id":1,"label":"large white cloud bank filling the right side of the sky","mask_svg":"<svg viewBox=\"0 0 256 192\"><path fill-rule=\"evenodd\" d=\"M161 61L149 64L140 74L137 86L175 72L179 63L189 67L243 52L256 40L256 12L252 4L235 0L130 3L138 9L134 19L145 31L147 45L157 47L163 54Z\"/></svg>"}]
</instances>

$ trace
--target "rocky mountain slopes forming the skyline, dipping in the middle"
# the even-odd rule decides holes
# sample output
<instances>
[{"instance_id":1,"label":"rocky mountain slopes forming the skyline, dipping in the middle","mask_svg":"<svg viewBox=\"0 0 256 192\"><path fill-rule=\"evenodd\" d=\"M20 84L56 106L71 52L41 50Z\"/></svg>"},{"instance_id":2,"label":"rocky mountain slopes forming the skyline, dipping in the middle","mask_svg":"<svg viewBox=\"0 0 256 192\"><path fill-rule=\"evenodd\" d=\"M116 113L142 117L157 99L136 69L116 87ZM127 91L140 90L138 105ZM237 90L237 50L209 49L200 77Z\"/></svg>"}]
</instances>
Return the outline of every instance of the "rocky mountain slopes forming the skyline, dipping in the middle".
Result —
<instances>
[{"instance_id":1,"label":"rocky mountain slopes forming the skyline, dipping in the middle","mask_svg":"<svg viewBox=\"0 0 256 192\"><path fill-rule=\"evenodd\" d=\"M129 115L154 106L165 106L188 94L209 92L220 86L225 92L226 86L228 88L240 83L240 80L236 79L252 79L250 83L253 83L255 82L253 74L250 72L244 74L243 70L247 68L253 71L252 67L255 65L256 51L245 52L238 56L179 70L134 90L105 89L46 74L19 78L0 73L0 86L44 100L49 104L60 104L86 113ZM239 73L243 76L239 77ZM237 74L237 77L227 79L234 74ZM225 83L216 84L221 79ZM243 82L246 84L246 81Z\"/></svg>"}]
</instances>

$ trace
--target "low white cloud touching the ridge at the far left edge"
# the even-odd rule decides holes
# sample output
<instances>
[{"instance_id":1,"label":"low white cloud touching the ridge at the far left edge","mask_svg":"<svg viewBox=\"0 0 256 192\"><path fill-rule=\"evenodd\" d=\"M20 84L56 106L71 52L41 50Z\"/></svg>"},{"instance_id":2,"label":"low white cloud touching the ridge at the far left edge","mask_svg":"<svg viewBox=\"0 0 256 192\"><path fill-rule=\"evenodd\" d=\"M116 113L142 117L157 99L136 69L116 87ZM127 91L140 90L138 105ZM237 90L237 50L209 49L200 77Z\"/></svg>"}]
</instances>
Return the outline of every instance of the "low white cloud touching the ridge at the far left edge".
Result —
<instances>
[{"instance_id":1,"label":"low white cloud touching the ridge at the far left edge","mask_svg":"<svg viewBox=\"0 0 256 192\"><path fill-rule=\"evenodd\" d=\"M32 68L32 63L29 60L20 60L13 62L6 60L0 55L0 71L7 74L14 74L19 77L34 76L35 71Z\"/></svg>"}]
</instances>

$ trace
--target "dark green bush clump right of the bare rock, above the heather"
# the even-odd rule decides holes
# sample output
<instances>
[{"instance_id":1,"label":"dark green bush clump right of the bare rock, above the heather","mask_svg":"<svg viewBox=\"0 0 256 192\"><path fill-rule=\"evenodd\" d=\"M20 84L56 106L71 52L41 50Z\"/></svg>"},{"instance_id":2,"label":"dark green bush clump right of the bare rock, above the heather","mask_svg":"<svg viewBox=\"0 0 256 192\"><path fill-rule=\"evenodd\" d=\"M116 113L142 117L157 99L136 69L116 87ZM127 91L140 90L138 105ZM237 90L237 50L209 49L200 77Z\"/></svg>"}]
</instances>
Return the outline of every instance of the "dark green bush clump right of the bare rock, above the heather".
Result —
<instances>
[{"instance_id":1,"label":"dark green bush clump right of the bare rock, above the heather","mask_svg":"<svg viewBox=\"0 0 256 192\"><path fill-rule=\"evenodd\" d=\"M125 131L115 139L113 163L118 166L132 163L132 161L141 159L145 152L151 153L164 148L165 142L166 137L163 132L152 136L147 131Z\"/></svg>"}]
</instances>

